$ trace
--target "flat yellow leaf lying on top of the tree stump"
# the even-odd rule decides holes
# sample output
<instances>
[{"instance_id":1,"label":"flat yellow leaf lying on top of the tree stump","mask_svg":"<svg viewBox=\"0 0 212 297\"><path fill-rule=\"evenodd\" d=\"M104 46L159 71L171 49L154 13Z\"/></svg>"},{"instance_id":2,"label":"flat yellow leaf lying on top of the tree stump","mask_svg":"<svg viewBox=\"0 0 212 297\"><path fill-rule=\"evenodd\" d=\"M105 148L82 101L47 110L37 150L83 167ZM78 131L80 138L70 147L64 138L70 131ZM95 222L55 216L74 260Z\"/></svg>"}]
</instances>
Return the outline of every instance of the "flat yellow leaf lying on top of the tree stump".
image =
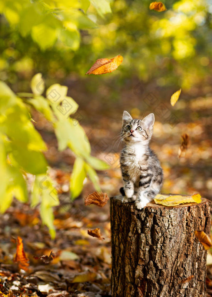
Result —
<instances>
[{"instance_id":1,"label":"flat yellow leaf lying on top of the tree stump","mask_svg":"<svg viewBox=\"0 0 212 297\"><path fill-rule=\"evenodd\" d=\"M201 196L200 194L194 194L192 196L157 194L154 198L154 202L166 206L176 206L181 203L190 202L200 203Z\"/></svg>"}]
</instances>

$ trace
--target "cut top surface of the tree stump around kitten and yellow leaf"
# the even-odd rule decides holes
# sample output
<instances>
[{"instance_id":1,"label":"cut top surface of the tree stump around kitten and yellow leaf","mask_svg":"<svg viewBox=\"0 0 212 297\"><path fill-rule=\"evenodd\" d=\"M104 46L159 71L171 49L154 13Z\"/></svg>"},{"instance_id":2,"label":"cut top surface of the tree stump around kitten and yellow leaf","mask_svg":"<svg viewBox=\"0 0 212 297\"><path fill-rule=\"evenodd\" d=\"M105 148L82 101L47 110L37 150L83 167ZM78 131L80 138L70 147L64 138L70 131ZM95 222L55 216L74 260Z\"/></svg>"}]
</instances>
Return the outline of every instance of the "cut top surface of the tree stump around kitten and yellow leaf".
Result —
<instances>
[{"instance_id":1,"label":"cut top surface of the tree stump around kitten and yellow leaf","mask_svg":"<svg viewBox=\"0 0 212 297\"><path fill-rule=\"evenodd\" d=\"M164 194L164 195L176 195L176 194ZM185 196L186 197L186 195L181 195L181 196ZM111 197L111 199L117 200L117 201L119 201L119 202L121 202L121 203L124 204L126 202L123 201L123 198L124 198L124 196L122 196L122 195L116 195L114 197ZM182 208L182 207L200 205L202 203L205 203L207 201L210 201L210 200L208 200L206 198L203 198L203 197L201 197L201 200L202 201L200 203L190 202L190 203L183 203L183 204L175 205L175 206L167 206L167 205L157 204L157 203L154 202L154 200L152 200L151 202L147 203L146 207L150 207L150 208L161 208L161 207L165 207L165 208L173 209L173 208ZM134 208L136 209L134 202L128 202L128 204L134 206ZM139 211L139 209L137 209L137 210Z\"/></svg>"}]
</instances>

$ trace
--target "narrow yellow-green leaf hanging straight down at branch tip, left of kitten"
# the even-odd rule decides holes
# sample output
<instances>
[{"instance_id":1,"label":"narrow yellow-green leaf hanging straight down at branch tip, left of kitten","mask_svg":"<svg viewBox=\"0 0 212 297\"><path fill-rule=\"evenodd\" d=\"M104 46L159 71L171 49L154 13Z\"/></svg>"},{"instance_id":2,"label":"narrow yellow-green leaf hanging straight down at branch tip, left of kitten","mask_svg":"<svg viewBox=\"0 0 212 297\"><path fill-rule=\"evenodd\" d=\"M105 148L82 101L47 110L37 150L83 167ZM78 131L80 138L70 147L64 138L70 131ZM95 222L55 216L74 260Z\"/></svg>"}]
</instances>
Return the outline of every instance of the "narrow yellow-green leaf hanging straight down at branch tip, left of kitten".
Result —
<instances>
[{"instance_id":1,"label":"narrow yellow-green leaf hanging straight down at branch tip, left of kitten","mask_svg":"<svg viewBox=\"0 0 212 297\"><path fill-rule=\"evenodd\" d=\"M70 179L71 199L78 197L82 191L83 181L86 177L84 164L83 159L79 157L76 158Z\"/></svg>"}]
</instances>

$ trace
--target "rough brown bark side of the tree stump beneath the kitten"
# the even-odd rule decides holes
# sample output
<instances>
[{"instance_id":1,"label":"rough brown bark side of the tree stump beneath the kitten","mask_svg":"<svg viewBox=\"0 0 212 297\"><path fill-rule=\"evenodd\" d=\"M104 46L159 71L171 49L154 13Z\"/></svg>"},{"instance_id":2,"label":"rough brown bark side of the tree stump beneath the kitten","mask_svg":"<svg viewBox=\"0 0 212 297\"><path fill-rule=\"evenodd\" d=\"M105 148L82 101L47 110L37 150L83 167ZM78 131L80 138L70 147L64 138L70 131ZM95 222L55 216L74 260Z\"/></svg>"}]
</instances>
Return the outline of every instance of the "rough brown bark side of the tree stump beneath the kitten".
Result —
<instances>
[{"instance_id":1,"label":"rough brown bark side of the tree stump beneath the kitten","mask_svg":"<svg viewBox=\"0 0 212 297\"><path fill-rule=\"evenodd\" d=\"M210 205L167 207L111 198L113 297L205 296L206 251L194 232L210 234Z\"/></svg>"}]
</instances>

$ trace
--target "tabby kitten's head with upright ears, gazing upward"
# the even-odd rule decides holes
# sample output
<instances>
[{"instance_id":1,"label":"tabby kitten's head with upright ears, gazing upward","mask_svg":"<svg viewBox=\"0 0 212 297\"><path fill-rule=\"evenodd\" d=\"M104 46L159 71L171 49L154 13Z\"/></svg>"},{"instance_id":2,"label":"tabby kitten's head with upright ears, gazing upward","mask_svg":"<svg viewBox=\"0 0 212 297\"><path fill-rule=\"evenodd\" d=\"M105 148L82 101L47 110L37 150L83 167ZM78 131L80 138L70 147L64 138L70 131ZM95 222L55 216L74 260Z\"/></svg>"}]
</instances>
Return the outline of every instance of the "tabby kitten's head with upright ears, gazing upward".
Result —
<instances>
[{"instance_id":1,"label":"tabby kitten's head with upright ears, gazing upward","mask_svg":"<svg viewBox=\"0 0 212 297\"><path fill-rule=\"evenodd\" d=\"M150 142L154 125L154 113L150 113L143 120L133 119L131 115L124 111L122 118L121 137L126 143Z\"/></svg>"}]
</instances>

